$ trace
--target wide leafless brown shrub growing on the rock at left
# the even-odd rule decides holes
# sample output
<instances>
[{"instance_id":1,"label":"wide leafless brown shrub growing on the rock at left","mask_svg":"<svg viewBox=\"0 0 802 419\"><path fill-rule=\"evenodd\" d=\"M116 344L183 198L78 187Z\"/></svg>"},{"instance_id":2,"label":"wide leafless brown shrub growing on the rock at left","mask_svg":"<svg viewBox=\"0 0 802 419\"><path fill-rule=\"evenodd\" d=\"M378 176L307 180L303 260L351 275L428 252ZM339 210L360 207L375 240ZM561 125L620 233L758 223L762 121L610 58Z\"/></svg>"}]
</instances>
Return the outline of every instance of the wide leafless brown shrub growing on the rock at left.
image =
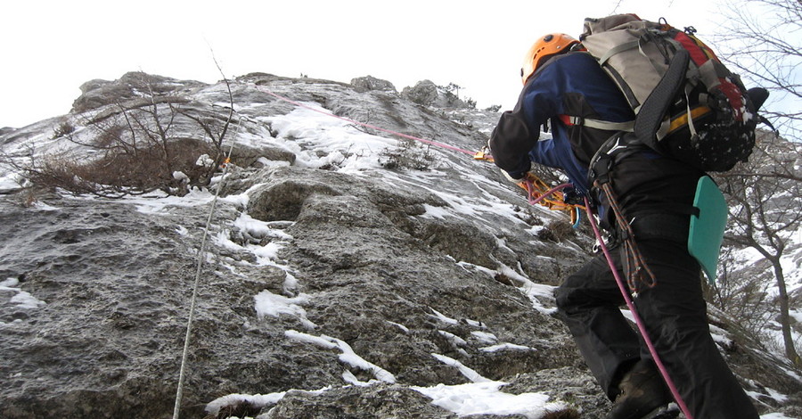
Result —
<instances>
[{"instance_id":1,"label":"wide leafless brown shrub growing on the rock at left","mask_svg":"<svg viewBox=\"0 0 802 419\"><path fill-rule=\"evenodd\" d=\"M227 79L231 107L223 116L197 105L191 108L186 99L154 93L146 76L143 98L117 103L87 120L84 135L72 135L75 128L67 123L56 128L55 136L78 145L68 147L70 152L37 158L31 152L24 163L0 156L0 162L16 169L31 189L61 188L109 198L155 190L182 195L188 186L209 185L225 159L223 139L233 117ZM192 135L198 128L203 135Z\"/></svg>"}]
</instances>

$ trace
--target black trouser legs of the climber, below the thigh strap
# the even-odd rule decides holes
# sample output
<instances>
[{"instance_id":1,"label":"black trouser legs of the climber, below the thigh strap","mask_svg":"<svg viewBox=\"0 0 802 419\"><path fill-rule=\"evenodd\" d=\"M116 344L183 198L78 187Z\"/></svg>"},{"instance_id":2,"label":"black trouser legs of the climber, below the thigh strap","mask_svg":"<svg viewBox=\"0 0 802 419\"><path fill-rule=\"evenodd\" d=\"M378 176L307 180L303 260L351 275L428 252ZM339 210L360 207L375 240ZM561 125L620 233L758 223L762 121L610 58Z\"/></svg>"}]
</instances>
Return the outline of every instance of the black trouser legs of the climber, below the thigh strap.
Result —
<instances>
[{"instance_id":1,"label":"black trouser legs of the climber, below the thigh strap","mask_svg":"<svg viewBox=\"0 0 802 419\"><path fill-rule=\"evenodd\" d=\"M683 242L639 240L638 248L657 283L641 287L633 299L635 308L694 419L757 419L757 410L710 336L699 264ZM611 250L619 273L620 252ZM556 298L558 315L587 366L608 397L615 398L619 375L651 355L619 309L624 298L604 255L570 275Z\"/></svg>"}]
</instances>

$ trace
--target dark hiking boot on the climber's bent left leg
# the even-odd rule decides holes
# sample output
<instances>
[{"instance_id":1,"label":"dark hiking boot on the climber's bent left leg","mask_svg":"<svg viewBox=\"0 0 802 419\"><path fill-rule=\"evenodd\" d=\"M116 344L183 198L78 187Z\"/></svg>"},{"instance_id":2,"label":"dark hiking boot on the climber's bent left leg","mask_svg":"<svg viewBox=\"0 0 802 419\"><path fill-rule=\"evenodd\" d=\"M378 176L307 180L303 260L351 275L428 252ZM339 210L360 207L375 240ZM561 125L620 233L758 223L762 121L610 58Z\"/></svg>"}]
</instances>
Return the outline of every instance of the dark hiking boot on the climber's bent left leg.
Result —
<instances>
[{"instance_id":1,"label":"dark hiking boot on the climber's bent left leg","mask_svg":"<svg viewBox=\"0 0 802 419\"><path fill-rule=\"evenodd\" d=\"M674 400L651 360L638 361L618 383L618 390L606 419L663 419L679 413L667 408Z\"/></svg>"}]
</instances>

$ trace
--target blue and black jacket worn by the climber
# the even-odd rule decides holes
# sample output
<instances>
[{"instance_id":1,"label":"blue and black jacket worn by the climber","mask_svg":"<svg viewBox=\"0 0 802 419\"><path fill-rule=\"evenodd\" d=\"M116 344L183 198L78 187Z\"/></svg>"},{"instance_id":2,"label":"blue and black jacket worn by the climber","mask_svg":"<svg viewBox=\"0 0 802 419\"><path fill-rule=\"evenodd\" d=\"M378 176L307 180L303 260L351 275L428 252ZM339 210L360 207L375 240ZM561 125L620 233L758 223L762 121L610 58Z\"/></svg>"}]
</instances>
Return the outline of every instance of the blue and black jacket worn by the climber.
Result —
<instances>
[{"instance_id":1,"label":"blue and black jacket worn by the climber","mask_svg":"<svg viewBox=\"0 0 802 419\"><path fill-rule=\"evenodd\" d=\"M511 177L521 177L534 161L561 169L577 192L586 194L587 165L615 131L567 125L561 115L612 122L634 119L624 95L592 56L565 53L529 78L515 108L499 119L490 150L496 165ZM541 127L549 121L552 136L541 139Z\"/></svg>"}]
</instances>

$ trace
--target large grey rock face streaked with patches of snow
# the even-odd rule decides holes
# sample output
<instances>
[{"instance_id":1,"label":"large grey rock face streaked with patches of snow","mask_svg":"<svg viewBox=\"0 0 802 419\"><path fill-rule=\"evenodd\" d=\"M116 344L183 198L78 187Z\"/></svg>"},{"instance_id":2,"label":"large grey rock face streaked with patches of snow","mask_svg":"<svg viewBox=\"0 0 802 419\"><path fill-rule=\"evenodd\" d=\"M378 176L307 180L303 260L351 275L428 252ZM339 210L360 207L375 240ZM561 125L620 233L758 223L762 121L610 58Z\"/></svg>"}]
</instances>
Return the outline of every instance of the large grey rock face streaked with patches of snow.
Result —
<instances>
[{"instance_id":1,"label":"large grey rock face streaked with patches of snow","mask_svg":"<svg viewBox=\"0 0 802 419\"><path fill-rule=\"evenodd\" d=\"M127 78L83 86L76 112L128 98ZM153 80L188 109L225 112L203 105L226 103L224 86ZM603 417L551 296L589 236L555 233L565 218L529 207L492 164L430 149L429 170L382 168L395 140L266 93L464 149L487 141L486 127L360 86L237 80L233 165L208 192L0 196L0 417L170 417L217 189L181 417L454 418L421 389L479 377L561 401L565 417ZM44 127L0 144L22 148ZM757 380L763 411L798 415L798 375L757 349L722 350ZM784 407L763 386L790 395Z\"/></svg>"}]
</instances>

